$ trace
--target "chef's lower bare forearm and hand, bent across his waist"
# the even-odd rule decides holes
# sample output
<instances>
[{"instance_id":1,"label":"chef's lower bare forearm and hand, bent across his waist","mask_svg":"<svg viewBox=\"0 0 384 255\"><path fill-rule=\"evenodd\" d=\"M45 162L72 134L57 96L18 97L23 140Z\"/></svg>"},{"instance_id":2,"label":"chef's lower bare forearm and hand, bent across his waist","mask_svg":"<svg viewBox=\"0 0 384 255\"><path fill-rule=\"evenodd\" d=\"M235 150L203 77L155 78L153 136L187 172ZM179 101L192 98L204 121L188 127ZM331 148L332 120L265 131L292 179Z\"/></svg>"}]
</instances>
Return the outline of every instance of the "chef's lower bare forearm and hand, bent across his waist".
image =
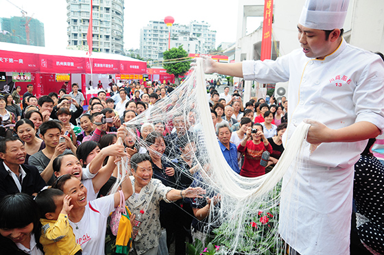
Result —
<instances>
[{"instance_id":1,"label":"chef's lower bare forearm and hand, bent across his waist","mask_svg":"<svg viewBox=\"0 0 384 255\"><path fill-rule=\"evenodd\" d=\"M304 121L311 124L309 127L307 141L309 143L342 143L342 142L356 142L368 138L374 138L380 134L379 127L368 121L359 121L342 127L338 130L333 130L326 125L313 121Z\"/></svg>"}]
</instances>

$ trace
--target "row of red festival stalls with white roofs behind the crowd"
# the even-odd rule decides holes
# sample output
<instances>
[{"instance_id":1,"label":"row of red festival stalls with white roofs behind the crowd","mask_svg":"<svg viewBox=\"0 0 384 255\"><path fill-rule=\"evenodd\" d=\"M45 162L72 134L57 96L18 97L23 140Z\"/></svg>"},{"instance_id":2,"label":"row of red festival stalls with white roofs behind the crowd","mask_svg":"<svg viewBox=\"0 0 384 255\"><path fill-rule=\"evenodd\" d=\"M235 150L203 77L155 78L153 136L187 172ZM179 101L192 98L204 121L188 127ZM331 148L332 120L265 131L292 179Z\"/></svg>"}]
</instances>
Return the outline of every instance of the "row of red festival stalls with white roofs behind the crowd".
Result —
<instances>
[{"instance_id":1,"label":"row of red festival stalls with white roofs behind the crowd","mask_svg":"<svg viewBox=\"0 0 384 255\"><path fill-rule=\"evenodd\" d=\"M0 42L0 90L3 93L7 92L4 88L12 90L13 86L21 86L23 94L27 84L33 84L34 94L40 97L51 92L58 93L68 81L67 91L71 90L71 83L77 82L86 95L88 92L93 94L92 85L97 86L100 77L112 82L120 75L146 74L145 61L116 54L93 52L92 58L89 58L86 51L53 51L45 47ZM115 75L118 75L117 78ZM104 89L109 88L108 84L104 84Z\"/></svg>"}]
</instances>

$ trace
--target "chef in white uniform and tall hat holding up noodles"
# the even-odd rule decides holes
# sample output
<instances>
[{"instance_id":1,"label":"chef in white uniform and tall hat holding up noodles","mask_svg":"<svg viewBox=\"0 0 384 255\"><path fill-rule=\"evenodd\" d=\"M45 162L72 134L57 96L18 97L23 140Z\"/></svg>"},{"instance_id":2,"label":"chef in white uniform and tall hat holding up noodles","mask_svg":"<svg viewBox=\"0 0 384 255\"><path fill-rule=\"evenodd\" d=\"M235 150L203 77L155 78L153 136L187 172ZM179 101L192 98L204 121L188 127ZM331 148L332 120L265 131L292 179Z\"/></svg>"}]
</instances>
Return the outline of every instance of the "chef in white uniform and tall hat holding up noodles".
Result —
<instances>
[{"instance_id":1,"label":"chef in white uniform and tall hat holding up noodles","mask_svg":"<svg viewBox=\"0 0 384 255\"><path fill-rule=\"evenodd\" d=\"M354 164L367 139L384 129L384 64L342 37L348 3L307 0L298 22L302 49L276 60L204 58L206 73L289 81L285 138L302 121L311 124L298 151L302 164L291 165L283 178L279 232L290 254L350 254Z\"/></svg>"}]
</instances>

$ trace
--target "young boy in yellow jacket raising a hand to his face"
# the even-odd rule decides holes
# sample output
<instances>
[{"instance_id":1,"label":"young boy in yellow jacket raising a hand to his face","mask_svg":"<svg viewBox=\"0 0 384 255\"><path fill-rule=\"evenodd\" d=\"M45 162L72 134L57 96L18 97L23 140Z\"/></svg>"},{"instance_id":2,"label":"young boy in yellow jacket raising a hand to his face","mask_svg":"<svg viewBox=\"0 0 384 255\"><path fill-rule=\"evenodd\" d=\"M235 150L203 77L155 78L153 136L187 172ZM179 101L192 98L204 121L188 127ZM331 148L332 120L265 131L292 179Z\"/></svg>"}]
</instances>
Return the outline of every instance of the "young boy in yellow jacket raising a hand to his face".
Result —
<instances>
[{"instance_id":1,"label":"young boy in yellow jacket raising a hand to his face","mask_svg":"<svg viewBox=\"0 0 384 255\"><path fill-rule=\"evenodd\" d=\"M82 248L76 243L75 234L69 225L68 214L71 197L60 189L45 189L36 196L40 210L41 228L40 243L46 255L81 255Z\"/></svg>"}]
</instances>

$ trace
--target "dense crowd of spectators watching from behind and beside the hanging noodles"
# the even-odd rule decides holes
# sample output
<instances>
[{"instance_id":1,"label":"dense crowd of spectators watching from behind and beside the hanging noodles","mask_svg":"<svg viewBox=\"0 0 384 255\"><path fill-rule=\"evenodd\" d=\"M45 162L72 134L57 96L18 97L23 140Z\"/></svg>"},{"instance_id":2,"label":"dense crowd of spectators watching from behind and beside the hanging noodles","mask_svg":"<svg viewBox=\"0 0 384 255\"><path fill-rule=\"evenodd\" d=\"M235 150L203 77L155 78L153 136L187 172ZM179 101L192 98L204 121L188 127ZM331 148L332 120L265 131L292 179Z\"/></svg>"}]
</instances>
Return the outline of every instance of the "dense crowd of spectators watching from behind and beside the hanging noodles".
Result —
<instances>
[{"instance_id":1,"label":"dense crowd of spectators watching from behind and beside the hanging noodles","mask_svg":"<svg viewBox=\"0 0 384 255\"><path fill-rule=\"evenodd\" d=\"M115 162L128 157L131 182L121 186L126 204L133 215L143 208L148 212L132 253L169 254L174 242L176 254L185 254L186 241L207 234L204 221L208 211L202 208L209 208L213 199L187 198L204 193L204 185L198 184L201 173L195 167L197 141L190 140L198 126L195 112L189 112L187 121L176 114L168 122L125 125L167 98L173 88L132 83L109 95L100 90L89 100L88 110L84 110L84 95L77 84L71 88L70 93L62 88L59 95L36 98L29 84L24 95L17 87L16 93L0 97L0 199L8 211L0 215L3 247L10 254L54 254L57 249L63 254L104 254L108 215L119 205L119 194L108 196L117 178ZM222 95L209 88L207 94L217 143L237 174L263 175L263 151L271 153L269 170L283 152L281 136L287 124L275 123L284 119L286 99L278 106L274 97L269 104L265 99L251 99L243 108L241 95L228 92L229 87ZM283 109L279 116L278 107ZM123 145L117 144L118 137ZM36 197L36 204L31 197ZM217 194L213 197L217 203ZM22 208L20 203L29 208L16 212ZM12 215L26 219L5 220ZM92 227L91 221L99 224ZM62 232L55 232L55 228ZM73 234L58 242L64 232Z\"/></svg>"}]
</instances>

